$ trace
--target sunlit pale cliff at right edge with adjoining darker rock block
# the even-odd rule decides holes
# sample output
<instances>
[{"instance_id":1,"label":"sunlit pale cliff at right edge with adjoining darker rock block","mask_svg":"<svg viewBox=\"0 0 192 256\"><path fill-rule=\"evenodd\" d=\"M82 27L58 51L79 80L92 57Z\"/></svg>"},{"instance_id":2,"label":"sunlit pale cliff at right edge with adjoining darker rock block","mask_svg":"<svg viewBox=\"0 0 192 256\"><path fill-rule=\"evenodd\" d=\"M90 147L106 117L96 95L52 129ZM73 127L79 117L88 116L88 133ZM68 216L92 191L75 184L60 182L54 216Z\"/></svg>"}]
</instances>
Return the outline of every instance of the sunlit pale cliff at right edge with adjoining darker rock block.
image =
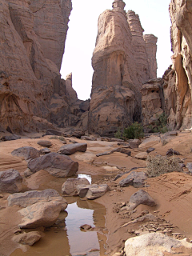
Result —
<instances>
[{"instance_id":1,"label":"sunlit pale cliff at right edge with adjoining darker rock block","mask_svg":"<svg viewBox=\"0 0 192 256\"><path fill-rule=\"evenodd\" d=\"M168 128L179 130L192 126L192 14L191 2L170 2L170 38L173 65L162 79L142 86L142 122L154 125L156 114L164 112ZM147 106L147 107L146 107Z\"/></svg>"}]
</instances>

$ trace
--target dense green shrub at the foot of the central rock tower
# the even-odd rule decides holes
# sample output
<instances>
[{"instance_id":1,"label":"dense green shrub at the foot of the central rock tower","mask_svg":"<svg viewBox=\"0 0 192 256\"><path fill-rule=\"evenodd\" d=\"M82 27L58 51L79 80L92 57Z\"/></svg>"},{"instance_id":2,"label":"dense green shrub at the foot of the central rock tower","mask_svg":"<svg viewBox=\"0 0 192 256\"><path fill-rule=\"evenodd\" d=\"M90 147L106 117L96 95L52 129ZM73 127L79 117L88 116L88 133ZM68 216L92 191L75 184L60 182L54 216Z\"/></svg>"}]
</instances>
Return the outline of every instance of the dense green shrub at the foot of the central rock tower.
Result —
<instances>
[{"instance_id":1,"label":"dense green shrub at the foot of the central rock tower","mask_svg":"<svg viewBox=\"0 0 192 256\"><path fill-rule=\"evenodd\" d=\"M132 125L124 129L122 137L128 139L143 138L144 132L142 124L134 122Z\"/></svg>"}]
</instances>

